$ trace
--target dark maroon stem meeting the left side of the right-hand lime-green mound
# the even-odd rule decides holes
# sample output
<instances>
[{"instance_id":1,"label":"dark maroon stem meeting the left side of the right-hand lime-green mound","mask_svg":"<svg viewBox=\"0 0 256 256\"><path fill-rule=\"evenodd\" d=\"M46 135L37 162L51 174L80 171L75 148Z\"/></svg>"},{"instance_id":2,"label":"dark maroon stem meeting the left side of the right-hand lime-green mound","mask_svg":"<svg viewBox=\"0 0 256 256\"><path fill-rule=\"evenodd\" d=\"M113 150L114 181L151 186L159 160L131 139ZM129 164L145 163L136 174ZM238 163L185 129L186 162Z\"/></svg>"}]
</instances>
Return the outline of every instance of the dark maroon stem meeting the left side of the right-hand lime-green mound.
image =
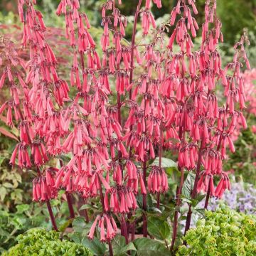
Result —
<instances>
[{"instance_id":1,"label":"dark maroon stem meeting the left side of the right-hand lime-green mound","mask_svg":"<svg viewBox=\"0 0 256 256\"><path fill-rule=\"evenodd\" d=\"M193 185L193 191L192 191L192 194L191 194L191 198L192 199L194 199L196 197L196 188L197 188L197 184L198 184L198 178L199 178L199 175L200 175L201 161L202 161L202 155L203 155L202 154L203 146L204 146L204 138L202 138L202 140L201 140L201 146L200 146L200 149L199 149L198 164L196 166L196 178L195 178L195 182L194 182L194 185ZM187 215L187 218L186 218L186 227L185 227L184 235L186 235L186 232L190 228L191 215L192 215L191 204L189 204L188 215Z\"/></svg>"}]
</instances>

